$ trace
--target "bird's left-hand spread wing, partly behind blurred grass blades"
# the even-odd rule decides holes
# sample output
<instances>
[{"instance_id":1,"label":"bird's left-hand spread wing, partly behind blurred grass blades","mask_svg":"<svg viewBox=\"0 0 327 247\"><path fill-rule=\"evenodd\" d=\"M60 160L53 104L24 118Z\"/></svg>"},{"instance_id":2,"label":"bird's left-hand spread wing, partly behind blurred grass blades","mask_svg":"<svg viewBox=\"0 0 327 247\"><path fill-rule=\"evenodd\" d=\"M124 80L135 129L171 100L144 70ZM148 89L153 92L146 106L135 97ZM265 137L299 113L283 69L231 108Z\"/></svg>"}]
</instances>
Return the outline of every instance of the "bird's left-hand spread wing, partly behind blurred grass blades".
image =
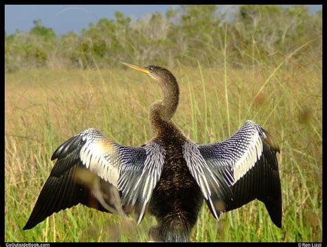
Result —
<instances>
[{"instance_id":1,"label":"bird's left-hand spread wing, partly behind blurred grass blades","mask_svg":"<svg viewBox=\"0 0 327 247\"><path fill-rule=\"evenodd\" d=\"M155 141L126 147L90 128L61 144L23 230L79 203L103 212L136 213L143 219L164 166L165 150Z\"/></svg>"}]
</instances>

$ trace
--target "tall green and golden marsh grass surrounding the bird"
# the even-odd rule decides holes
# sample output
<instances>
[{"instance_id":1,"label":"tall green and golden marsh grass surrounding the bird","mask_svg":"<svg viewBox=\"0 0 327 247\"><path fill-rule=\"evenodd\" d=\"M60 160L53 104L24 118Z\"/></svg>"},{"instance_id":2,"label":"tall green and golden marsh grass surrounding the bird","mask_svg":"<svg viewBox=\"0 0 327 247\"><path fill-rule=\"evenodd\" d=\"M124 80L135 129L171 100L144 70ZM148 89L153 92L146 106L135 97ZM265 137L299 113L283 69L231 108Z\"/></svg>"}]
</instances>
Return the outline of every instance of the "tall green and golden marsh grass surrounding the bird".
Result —
<instances>
[{"instance_id":1,"label":"tall green and golden marsh grass surrounding the bird","mask_svg":"<svg viewBox=\"0 0 327 247\"><path fill-rule=\"evenodd\" d=\"M281 64L283 63L283 64ZM260 201L216 221L205 205L192 241L321 241L321 62L255 68L170 68L181 99L173 121L198 143L222 141L246 119L279 142L282 228ZM280 67L279 67L280 66ZM94 127L119 144L152 137L150 104L159 87L133 70L28 70L6 75L5 241L148 241L155 219L129 219L84 206L22 228L53 162L52 152L72 135Z\"/></svg>"}]
</instances>

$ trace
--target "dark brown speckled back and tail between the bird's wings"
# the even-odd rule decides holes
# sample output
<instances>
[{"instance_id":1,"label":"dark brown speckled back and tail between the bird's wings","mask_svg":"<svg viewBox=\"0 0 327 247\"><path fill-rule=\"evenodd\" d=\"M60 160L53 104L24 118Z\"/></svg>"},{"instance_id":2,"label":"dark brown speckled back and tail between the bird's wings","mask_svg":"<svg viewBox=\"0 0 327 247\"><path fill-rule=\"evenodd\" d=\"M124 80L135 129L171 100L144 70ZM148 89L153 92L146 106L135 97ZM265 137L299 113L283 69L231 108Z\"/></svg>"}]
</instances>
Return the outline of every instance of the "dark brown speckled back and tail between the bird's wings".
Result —
<instances>
[{"instance_id":1,"label":"dark brown speckled back and tail between the bird's wings","mask_svg":"<svg viewBox=\"0 0 327 247\"><path fill-rule=\"evenodd\" d=\"M201 189L193 179L184 159L186 138L173 124L164 123L155 139L166 150L164 169L150 201L150 213L158 226L150 230L153 241L188 241L203 204Z\"/></svg>"}]
</instances>

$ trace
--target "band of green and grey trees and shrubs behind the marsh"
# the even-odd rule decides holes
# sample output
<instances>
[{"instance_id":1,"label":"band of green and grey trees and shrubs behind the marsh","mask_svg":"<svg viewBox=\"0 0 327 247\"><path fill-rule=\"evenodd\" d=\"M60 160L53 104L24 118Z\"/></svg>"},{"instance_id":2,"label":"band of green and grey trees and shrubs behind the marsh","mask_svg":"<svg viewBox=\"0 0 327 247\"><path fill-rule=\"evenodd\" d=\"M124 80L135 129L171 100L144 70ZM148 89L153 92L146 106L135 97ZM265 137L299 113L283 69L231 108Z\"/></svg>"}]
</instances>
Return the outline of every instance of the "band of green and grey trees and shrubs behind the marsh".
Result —
<instances>
[{"instance_id":1,"label":"band of green and grey trees and shrubs behind the marsh","mask_svg":"<svg viewBox=\"0 0 327 247\"><path fill-rule=\"evenodd\" d=\"M81 34L57 35L41 20L33 23L28 32L5 32L6 71L108 68L119 61L213 67L224 54L230 66L255 66L284 59L317 37L293 61L322 56L322 12L310 14L306 6L240 6L232 17L219 6L179 6L137 20L115 12L115 19L89 23Z\"/></svg>"}]
</instances>

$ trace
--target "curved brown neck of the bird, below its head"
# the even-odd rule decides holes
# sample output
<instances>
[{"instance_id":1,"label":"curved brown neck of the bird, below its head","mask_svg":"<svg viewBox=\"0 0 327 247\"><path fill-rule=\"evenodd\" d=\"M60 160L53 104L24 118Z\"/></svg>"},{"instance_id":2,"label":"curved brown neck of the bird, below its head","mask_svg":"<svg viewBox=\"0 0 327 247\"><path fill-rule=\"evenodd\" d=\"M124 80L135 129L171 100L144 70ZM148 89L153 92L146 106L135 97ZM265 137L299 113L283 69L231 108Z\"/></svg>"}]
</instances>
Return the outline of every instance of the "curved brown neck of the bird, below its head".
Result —
<instances>
[{"instance_id":1,"label":"curved brown neck of the bird, below its head","mask_svg":"<svg viewBox=\"0 0 327 247\"><path fill-rule=\"evenodd\" d=\"M179 101L179 86L175 77L170 74L158 79L164 99L152 103L150 106L150 123L152 130L158 132L162 121L169 122L175 114Z\"/></svg>"}]
</instances>

